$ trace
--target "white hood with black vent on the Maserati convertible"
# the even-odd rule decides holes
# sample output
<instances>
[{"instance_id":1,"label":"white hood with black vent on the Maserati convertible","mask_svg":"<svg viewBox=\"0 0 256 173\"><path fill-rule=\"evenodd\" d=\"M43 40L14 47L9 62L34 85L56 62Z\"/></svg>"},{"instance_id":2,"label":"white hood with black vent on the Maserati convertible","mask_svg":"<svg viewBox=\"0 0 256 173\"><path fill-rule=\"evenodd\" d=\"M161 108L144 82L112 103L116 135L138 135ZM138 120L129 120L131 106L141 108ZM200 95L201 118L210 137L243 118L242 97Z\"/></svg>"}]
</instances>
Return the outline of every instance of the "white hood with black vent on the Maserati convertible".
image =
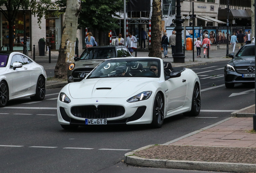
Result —
<instances>
[{"instance_id":1,"label":"white hood with black vent on the Maserati convertible","mask_svg":"<svg viewBox=\"0 0 256 173\"><path fill-rule=\"evenodd\" d=\"M95 78L70 83L68 89L74 99L83 98L126 98L132 97L145 85L159 78Z\"/></svg>"}]
</instances>

